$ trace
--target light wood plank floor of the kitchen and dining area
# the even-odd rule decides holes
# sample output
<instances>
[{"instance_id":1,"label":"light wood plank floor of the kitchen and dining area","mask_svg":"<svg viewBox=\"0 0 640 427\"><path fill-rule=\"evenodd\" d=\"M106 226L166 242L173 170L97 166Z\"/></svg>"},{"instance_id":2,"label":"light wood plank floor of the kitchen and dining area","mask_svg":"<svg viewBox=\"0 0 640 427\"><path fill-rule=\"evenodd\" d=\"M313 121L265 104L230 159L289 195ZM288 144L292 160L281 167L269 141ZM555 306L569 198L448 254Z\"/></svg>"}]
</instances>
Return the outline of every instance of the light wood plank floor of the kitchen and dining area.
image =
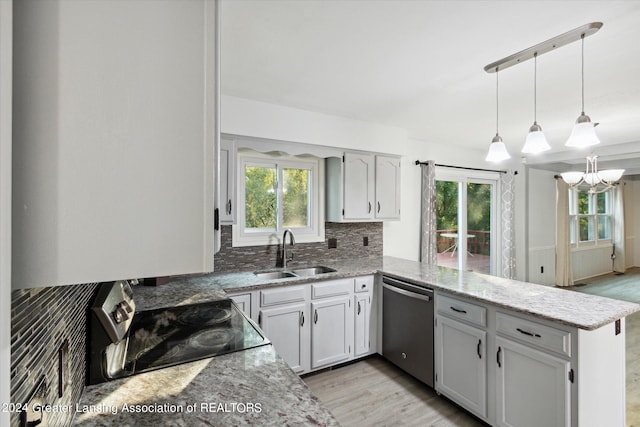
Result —
<instances>
[{"instance_id":1,"label":"light wood plank floor of the kitchen and dining area","mask_svg":"<svg viewBox=\"0 0 640 427\"><path fill-rule=\"evenodd\" d=\"M640 268L570 290L640 304ZM627 427L640 427L640 312L626 319ZM381 357L303 378L343 426L486 426Z\"/></svg>"}]
</instances>

